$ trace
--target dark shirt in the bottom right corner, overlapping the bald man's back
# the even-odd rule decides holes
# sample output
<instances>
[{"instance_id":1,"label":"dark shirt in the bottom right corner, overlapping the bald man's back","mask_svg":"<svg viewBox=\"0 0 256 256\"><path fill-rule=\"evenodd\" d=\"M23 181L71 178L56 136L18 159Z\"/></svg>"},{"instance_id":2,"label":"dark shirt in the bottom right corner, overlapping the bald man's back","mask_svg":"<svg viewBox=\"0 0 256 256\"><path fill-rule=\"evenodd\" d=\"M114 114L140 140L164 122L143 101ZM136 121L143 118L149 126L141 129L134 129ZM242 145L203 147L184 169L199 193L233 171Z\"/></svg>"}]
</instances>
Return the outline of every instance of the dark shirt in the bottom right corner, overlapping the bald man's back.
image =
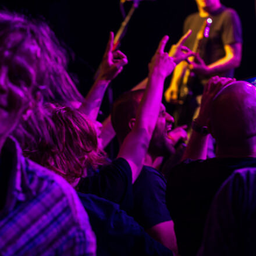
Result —
<instances>
[{"instance_id":1,"label":"dark shirt in the bottom right corner, overlapping the bald man's back","mask_svg":"<svg viewBox=\"0 0 256 256\"><path fill-rule=\"evenodd\" d=\"M256 168L236 170L216 194L198 256L256 255Z\"/></svg>"}]
</instances>

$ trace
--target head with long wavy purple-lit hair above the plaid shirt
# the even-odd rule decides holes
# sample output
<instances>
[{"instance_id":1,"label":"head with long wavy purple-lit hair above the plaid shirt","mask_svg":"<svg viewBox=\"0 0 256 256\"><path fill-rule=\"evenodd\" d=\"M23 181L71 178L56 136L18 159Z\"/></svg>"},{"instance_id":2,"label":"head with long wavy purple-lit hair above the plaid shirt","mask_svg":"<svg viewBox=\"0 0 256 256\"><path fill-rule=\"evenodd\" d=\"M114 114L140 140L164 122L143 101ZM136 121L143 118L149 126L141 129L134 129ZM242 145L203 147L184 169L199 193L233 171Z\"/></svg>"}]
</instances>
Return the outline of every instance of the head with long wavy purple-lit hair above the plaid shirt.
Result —
<instances>
[{"instance_id":1,"label":"head with long wavy purple-lit hair above the plaid shirt","mask_svg":"<svg viewBox=\"0 0 256 256\"><path fill-rule=\"evenodd\" d=\"M39 108L39 101L69 106L83 99L66 66L66 51L46 23L17 13L0 12L0 131L10 132L23 115L19 129L13 133L23 150L30 147L28 141L36 144L45 133L44 117L27 111L29 108ZM38 112L46 115L40 109ZM12 129L8 128L10 123Z\"/></svg>"}]
</instances>

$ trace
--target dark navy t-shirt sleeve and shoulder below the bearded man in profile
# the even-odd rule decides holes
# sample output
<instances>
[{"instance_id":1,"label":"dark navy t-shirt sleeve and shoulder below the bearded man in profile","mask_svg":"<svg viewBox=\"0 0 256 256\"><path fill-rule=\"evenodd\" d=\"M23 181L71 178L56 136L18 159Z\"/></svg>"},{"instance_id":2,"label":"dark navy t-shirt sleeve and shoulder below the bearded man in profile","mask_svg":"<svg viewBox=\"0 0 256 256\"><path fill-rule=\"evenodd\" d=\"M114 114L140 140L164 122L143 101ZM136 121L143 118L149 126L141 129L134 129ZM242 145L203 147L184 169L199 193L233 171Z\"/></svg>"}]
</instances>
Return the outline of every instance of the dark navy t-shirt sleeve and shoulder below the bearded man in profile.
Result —
<instances>
[{"instance_id":1,"label":"dark navy t-shirt sleeve and shoulder below the bearded man in profile","mask_svg":"<svg viewBox=\"0 0 256 256\"><path fill-rule=\"evenodd\" d=\"M144 229L171 221L165 201L166 180L158 170L144 166L133 184L133 211L131 216Z\"/></svg>"}]
</instances>

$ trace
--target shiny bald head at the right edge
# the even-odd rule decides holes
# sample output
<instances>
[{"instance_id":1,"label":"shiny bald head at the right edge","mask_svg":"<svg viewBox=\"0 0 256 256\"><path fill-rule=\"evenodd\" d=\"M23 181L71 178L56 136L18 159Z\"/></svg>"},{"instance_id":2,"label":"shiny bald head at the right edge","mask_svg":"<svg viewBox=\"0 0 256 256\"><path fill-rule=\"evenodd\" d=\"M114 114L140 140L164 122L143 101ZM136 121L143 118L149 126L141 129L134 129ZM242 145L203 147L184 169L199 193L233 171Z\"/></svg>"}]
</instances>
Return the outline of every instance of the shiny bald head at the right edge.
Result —
<instances>
[{"instance_id":1,"label":"shiny bald head at the right edge","mask_svg":"<svg viewBox=\"0 0 256 256\"><path fill-rule=\"evenodd\" d=\"M246 81L235 81L215 98L211 131L218 146L254 143L256 137L256 88Z\"/></svg>"}]
</instances>

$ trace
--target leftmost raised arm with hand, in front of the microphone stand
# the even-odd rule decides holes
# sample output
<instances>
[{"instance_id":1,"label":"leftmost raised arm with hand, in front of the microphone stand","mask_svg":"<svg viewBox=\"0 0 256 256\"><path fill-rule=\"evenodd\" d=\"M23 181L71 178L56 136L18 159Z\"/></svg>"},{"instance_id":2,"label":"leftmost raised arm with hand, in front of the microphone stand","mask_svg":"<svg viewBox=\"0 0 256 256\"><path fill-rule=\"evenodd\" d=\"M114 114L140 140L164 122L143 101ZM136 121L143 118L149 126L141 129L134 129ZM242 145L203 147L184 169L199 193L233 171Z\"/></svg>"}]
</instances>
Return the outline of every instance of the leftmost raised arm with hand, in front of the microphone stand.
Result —
<instances>
[{"instance_id":1,"label":"leftmost raised arm with hand, in front of the microphone stand","mask_svg":"<svg viewBox=\"0 0 256 256\"><path fill-rule=\"evenodd\" d=\"M112 51L113 37L113 32L111 32L97 79L79 107L79 111L86 114L91 120L96 120L98 116L102 98L109 83L123 70L123 66L128 63L125 54L120 51Z\"/></svg>"}]
</instances>

